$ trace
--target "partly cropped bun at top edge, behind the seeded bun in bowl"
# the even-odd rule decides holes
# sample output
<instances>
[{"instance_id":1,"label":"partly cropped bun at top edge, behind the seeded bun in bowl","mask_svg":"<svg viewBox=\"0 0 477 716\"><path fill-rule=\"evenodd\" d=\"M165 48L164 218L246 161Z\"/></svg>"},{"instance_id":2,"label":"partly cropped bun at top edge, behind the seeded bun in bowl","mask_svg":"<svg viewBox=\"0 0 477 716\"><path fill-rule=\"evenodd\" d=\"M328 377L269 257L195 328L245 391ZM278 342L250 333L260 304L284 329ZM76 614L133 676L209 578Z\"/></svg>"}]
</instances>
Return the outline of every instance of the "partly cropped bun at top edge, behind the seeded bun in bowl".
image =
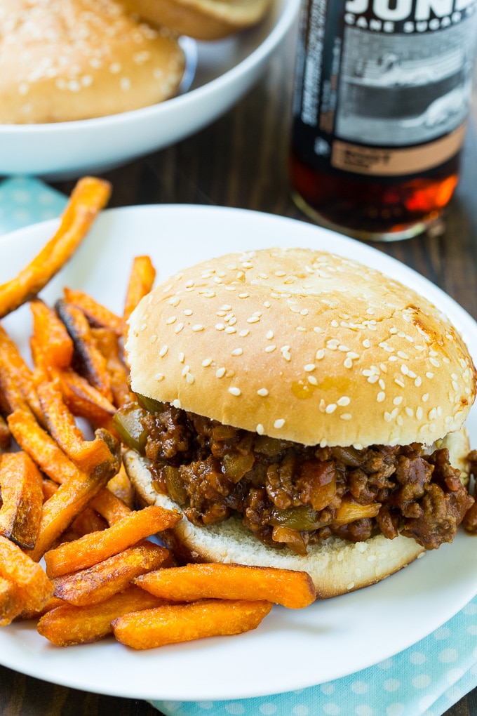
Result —
<instances>
[{"instance_id":1,"label":"partly cropped bun at top edge, behind the seeded bun in bowl","mask_svg":"<svg viewBox=\"0 0 477 716\"><path fill-rule=\"evenodd\" d=\"M271 0L121 0L152 24L199 40L216 40L256 25Z\"/></svg>"}]
</instances>

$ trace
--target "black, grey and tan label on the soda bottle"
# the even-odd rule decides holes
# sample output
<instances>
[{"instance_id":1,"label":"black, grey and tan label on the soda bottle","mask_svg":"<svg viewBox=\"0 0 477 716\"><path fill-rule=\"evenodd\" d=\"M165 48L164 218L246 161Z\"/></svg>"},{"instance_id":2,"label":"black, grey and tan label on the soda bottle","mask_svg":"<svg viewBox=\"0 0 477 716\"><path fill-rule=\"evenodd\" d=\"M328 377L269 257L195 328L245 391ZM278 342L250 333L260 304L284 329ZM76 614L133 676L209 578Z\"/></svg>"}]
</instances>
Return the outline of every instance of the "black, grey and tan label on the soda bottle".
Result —
<instances>
[{"instance_id":1,"label":"black, grey and tan label on the soda bottle","mask_svg":"<svg viewBox=\"0 0 477 716\"><path fill-rule=\"evenodd\" d=\"M300 18L295 148L317 168L422 173L463 143L476 0L309 0Z\"/></svg>"}]
</instances>

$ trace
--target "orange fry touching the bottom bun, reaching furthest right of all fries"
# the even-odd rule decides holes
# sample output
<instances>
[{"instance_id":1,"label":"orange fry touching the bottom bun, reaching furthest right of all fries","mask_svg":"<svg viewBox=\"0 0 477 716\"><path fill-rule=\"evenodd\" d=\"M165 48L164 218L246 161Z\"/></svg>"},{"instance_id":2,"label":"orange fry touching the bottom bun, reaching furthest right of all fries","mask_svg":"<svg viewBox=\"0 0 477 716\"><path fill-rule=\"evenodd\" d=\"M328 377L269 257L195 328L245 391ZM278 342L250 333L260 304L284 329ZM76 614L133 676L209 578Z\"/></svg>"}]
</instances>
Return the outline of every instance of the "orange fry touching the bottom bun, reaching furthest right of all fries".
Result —
<instances>
[{"instance_id":1,"label":"orange fry touching the bottom bun, reaching furthest right of all fries","mask_svg":"<svg viewBox=\"0 0 477 716\"><path fill-rule=\"evenodd\" d=\"M172 601L260 599L302 609L316 599L306 572L241 564L187 564L144 574L134 584Z\"/></svg>"}]
</instances>

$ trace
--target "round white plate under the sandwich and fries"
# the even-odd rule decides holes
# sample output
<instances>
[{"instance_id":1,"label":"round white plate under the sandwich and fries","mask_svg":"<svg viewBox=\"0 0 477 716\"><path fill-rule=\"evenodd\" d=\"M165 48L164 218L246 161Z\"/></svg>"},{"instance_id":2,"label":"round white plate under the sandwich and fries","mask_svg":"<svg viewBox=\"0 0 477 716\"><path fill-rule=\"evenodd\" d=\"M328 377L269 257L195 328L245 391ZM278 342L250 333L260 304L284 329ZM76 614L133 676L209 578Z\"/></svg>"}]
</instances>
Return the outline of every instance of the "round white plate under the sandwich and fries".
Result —
<instances>
[{"instance_id":1,"label":"round white plate under the sandwich and fries","mask_svg":"<svg viewBox=\"0 0 477 716\"><path fill-rule=\"evenodd\" d=\"M0 281L11 277L51 236L56 221L0 239ZM426 294L445 311L477 357L477 325L446 294L392 258L335 233L267 214L204 206L114 209L99 217L73 261L44 291L89 291L121 311L132 258L149 253L167 278L185 263L242 248L325 248L368 263ZM26 349L29 310L4 321ZM476 411L468 422L477 445ZM368 667L400 652L450 619L477 593L476 539L426 554L380 584L301 611L274 607L254 632L133 652L108 639L59 649L32 624L0 629L0 663L46 681L143 699L211 700L308 687ZM283 661L282 661L283 660Z\"/></svg>"}]
</instances>

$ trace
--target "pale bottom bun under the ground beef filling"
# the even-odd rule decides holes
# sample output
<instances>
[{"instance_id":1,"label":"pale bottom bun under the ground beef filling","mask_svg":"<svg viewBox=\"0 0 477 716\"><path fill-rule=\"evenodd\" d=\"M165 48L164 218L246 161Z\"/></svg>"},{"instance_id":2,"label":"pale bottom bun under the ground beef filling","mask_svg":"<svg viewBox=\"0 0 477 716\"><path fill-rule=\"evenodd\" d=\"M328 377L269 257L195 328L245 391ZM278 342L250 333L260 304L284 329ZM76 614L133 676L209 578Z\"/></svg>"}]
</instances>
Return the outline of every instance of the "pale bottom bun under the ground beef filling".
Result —
<instances>
[{"instance_id":1,"label":"pale bottom bun under the ground beef filling","mask_svg":"<svg viewBox=\"0 0 477 716\"><path fill-rule=\"evenodd\" d=\"M154 490L146 459L127 450L124 465L143 503L181 511L167 495ZM172 530L161 533L161 538L184 563L233 562L307 571L318 599L375 584L425 552L412 538L403 536L390 540L377 535L357 543L332 536L309 546L306 556L299 556L289 548L279 550L261 543L238 517L200 527L184 517Z\"/></svg>"}]
</instances>

